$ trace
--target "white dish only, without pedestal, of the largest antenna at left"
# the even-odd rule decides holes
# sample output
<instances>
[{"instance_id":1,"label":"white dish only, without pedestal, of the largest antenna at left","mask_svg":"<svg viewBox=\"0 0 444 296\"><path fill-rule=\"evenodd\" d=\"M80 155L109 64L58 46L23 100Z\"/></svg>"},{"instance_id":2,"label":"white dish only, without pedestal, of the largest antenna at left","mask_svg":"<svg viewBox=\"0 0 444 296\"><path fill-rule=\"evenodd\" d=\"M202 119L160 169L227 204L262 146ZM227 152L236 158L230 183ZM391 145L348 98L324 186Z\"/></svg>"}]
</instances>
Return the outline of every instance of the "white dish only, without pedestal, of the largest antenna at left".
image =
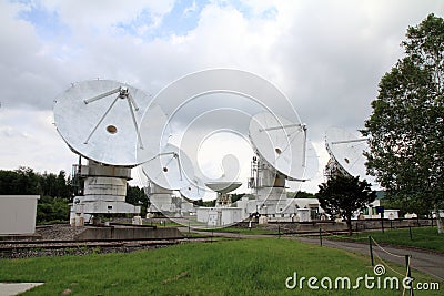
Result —
<instances>
[{"instance_id":1,"label":"white dish only, without pedestal, of the largest antenna at left","mask_svg":"<svg viewBox=\"0 0 444 296\"><path fill-rule=\"evenodd\" d=\"M103 164L135 166L141 161L138 150L147 159L159 153L159 144L151 145L147 135L161 131L151 127L140 134L141 118L150 101L144 92L125 83L83 81L54 100L54 123L75 153ZM150 105L145 113L151 115L150 122L164 125L167 119L159 106Z\"/></svg>"}]
</instances>

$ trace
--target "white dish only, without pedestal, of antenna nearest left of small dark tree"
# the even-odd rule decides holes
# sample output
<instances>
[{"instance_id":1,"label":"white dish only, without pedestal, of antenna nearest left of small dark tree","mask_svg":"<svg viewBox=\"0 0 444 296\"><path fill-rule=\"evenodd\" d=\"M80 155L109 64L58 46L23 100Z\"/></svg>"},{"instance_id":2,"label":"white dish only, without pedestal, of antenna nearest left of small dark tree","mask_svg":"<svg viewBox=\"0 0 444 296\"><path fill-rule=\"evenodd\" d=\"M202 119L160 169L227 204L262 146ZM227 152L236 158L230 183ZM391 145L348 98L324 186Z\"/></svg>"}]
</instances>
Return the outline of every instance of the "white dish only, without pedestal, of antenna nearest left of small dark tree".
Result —
<instances>
[{"instance_id":1,"label":"white dish only, without pedestal, of antenna nearest left of small dark tree","mask_svg":"<svg viewBox=\"0 0 444 296\"><path fill-rule=\"evenodd\" d=\"M290 178L306 180L305 124L262 112L251 119L249 132L254 147L274 169Z\"/></svg>"}]
</instances>

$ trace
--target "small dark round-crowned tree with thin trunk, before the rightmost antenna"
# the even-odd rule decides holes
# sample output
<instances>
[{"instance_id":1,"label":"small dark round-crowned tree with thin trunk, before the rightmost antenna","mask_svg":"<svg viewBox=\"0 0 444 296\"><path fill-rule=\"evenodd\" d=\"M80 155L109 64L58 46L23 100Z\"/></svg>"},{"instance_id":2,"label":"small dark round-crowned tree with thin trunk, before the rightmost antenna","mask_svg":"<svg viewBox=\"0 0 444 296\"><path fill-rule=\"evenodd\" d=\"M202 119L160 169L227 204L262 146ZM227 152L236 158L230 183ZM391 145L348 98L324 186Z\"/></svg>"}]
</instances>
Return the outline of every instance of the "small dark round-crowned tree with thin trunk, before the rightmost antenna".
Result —
<instances>
[{"instance_id":1,"label":"small dark round-crowned tree with thin trunk, before the rightmost antenna","mask_svg":"<svg viewBox=\"0 0 444 296\"><path fill-rule=\"evenodd\" d=\"M340 215L345 220L349 235L352 235L352 216L376 198L371 185L359 177L334 175L319 186L316 197L321 207L329 215Z\"/></svg>"}]
</instances>

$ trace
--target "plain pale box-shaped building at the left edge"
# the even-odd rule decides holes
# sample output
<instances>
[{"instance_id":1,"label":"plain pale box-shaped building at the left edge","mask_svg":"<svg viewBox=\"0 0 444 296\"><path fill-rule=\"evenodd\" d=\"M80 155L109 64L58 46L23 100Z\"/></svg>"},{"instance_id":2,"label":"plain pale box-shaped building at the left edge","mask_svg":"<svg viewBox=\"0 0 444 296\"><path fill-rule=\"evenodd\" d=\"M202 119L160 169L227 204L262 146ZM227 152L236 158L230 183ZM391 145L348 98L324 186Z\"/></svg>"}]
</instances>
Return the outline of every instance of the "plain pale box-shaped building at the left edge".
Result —
<instances>
[{"instance_id":1,"label":"plain pale box-shaped building at the left edge","mask_svg":"<svg viewBox=\"0 0 444 296\"><path fill-rule=\"evenodd\" d=\"M39 195L0 195L0 235L36 232Z\"/></svg>"}]
</instances>

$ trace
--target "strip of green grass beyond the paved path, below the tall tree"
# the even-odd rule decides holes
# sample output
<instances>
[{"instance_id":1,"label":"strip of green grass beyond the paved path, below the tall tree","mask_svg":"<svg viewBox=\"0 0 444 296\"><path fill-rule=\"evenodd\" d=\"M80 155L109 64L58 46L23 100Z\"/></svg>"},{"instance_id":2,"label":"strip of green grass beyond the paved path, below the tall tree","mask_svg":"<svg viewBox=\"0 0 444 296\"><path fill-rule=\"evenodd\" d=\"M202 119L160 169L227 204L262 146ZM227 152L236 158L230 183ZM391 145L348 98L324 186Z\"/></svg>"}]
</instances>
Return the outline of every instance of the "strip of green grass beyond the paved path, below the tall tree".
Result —
<instances>
[{"instance_id":1,"label":"strip of green grass beyond the paved path, below the tall tree","mask_svg":"<svg viewBox=\"0 0 444 296\"><path fill-rule=\"evenodd\" d=\"M438 234L436 227L412 227L412 239L408 228L384 229L353 234L352 239L365 241L371 235L377 243L413 246L444 252L444 234ZM343 236L346 237L346 236Z\"/></svg>"}]
</instances>

